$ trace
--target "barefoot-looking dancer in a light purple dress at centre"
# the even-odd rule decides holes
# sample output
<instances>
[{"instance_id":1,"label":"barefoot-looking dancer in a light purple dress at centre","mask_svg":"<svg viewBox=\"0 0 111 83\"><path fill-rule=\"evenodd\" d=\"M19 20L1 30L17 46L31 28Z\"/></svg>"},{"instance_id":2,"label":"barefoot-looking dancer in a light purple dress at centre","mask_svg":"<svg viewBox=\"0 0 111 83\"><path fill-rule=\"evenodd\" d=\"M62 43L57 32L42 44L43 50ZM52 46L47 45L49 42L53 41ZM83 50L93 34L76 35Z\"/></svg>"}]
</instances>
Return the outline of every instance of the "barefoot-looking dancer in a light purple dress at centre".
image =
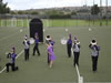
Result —
<instances>
[{"instance_id":1,"label":"barefoot-looking dancer in a light purple dress at centre","mask_svg":"<svg viewBox=\"0 0 111 83\"><path fill-rule=\"evenodd\" d=\"M53 61L56 60L56 55L53 54L53 50L52 50L52 45L51 44L47 44L47 51L49 53L49 60L50 60L49 66L52 68Z\"/></svg>"}]
</instances>

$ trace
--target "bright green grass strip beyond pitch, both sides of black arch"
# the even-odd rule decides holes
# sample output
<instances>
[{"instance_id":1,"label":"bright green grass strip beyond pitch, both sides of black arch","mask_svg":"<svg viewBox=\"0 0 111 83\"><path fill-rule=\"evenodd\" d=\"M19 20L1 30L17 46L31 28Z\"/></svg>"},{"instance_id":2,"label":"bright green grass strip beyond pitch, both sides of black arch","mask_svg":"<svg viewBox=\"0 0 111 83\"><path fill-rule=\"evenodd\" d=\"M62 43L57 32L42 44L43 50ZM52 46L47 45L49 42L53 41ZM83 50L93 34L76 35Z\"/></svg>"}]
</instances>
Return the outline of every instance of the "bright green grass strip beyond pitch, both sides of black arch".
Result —
<instances>
[{"instance_id":1,"label":"bright green grass strip beyond pitch, both sides of black arch","mask_svg":"<svg viewBox=\"0 0 111 83\"><path fill-rule=\"evenodd\" d=\"M2 19L0 20L0 27L28 27L31 19ZM111 25L111 20L108 20L108 25ZM73 19L42 19L43 27L99 27L100 20L73 20ZM105 20L102 20L102 25L105 24Z\"/></svg>"}]
</instances>

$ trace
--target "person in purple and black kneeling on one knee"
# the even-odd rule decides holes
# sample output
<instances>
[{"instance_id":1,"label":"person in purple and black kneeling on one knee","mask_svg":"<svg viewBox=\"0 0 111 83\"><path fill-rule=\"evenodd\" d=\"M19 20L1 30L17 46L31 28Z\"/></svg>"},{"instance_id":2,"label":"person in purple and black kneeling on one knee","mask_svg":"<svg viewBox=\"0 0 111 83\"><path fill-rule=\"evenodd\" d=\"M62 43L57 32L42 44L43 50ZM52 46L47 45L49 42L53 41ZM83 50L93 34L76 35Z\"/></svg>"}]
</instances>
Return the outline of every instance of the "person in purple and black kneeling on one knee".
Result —
<instances>
[{"instance_id":1,"label":"person in purple and black kneeling on one knee","mask_svg":"<svg viewBox=\"0 0 111 83\"><path fill-rule=\"evenodd\" d=\"M6 64L7 66L7 72L9 72L9 66L11 66L11 70L12 71L17 71L18 70L18 66L16 66L16 48L12 48L11 49L11 53L8 53L8 59L11 59L11 61L9 63Z\"/></svg>"}]
</instances>

